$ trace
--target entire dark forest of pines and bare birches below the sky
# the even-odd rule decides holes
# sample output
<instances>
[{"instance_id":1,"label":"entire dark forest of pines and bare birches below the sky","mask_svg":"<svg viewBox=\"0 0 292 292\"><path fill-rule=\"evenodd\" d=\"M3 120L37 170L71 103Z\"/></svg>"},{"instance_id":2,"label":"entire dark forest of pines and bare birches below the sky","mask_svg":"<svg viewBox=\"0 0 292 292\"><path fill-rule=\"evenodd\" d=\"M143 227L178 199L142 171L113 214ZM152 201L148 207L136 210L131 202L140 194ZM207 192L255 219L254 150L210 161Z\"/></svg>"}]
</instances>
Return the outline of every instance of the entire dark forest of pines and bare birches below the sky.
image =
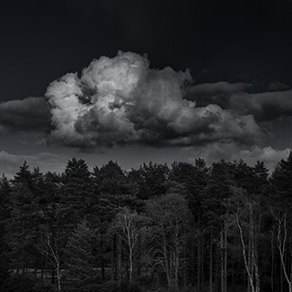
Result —
<instances>
[{"instance_id":1,"label":"entire dark forest of pines and bare birches below the sky","mask_svg":"<svg viewBox=\"0 0 292 292\"><path fill-rule=\"evenodd\" d=\"M292 292L292 152L1 178L1 291Z\"/></svg>"}]
</instances>

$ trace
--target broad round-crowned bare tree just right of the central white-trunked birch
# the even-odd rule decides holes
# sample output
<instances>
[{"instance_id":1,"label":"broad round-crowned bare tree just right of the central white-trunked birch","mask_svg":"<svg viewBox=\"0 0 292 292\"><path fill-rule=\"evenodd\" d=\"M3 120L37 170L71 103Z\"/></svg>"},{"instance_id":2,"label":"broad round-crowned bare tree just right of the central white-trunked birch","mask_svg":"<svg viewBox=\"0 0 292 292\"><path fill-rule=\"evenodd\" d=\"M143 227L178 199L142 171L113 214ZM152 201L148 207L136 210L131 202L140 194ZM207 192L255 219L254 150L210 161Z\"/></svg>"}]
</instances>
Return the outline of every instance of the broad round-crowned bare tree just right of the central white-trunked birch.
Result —
<instances>
[{"instance_id":1,"label":"broad round-crowned bare tree just right of the central white-trunked birch","mask_svg":"<svg viewBox=\"0 0 292 292\"><path fill-rule=\"evenodd\" d=\"M186 226L191 218L182 195L169 193L148 204L152 221L149 261L162 266L168 287L178 290L179 271L183 267Z\"/></svg>"}]
</instances>

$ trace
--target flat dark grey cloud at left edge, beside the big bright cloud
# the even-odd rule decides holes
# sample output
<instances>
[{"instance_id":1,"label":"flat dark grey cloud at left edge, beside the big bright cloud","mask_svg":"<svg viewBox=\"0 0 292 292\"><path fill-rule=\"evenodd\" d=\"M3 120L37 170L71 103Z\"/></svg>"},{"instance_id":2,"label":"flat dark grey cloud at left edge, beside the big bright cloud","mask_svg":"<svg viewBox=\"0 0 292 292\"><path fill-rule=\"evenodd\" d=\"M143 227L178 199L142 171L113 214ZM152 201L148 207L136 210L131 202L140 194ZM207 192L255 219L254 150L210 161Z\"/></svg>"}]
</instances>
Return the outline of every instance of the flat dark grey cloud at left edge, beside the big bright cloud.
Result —
<instances>
[{"instance_id":1,"label":"flat dark grey cloud at left edge, beside the big bright cloud","mask_svg":"<svg viewBox=\"0 0 292 292\"><path fill-rule=\"evenodd\" d=\"M4 101L0 104L1 130L48 132L50 112L44 98Z\"/></svg>"}]
</instances>

